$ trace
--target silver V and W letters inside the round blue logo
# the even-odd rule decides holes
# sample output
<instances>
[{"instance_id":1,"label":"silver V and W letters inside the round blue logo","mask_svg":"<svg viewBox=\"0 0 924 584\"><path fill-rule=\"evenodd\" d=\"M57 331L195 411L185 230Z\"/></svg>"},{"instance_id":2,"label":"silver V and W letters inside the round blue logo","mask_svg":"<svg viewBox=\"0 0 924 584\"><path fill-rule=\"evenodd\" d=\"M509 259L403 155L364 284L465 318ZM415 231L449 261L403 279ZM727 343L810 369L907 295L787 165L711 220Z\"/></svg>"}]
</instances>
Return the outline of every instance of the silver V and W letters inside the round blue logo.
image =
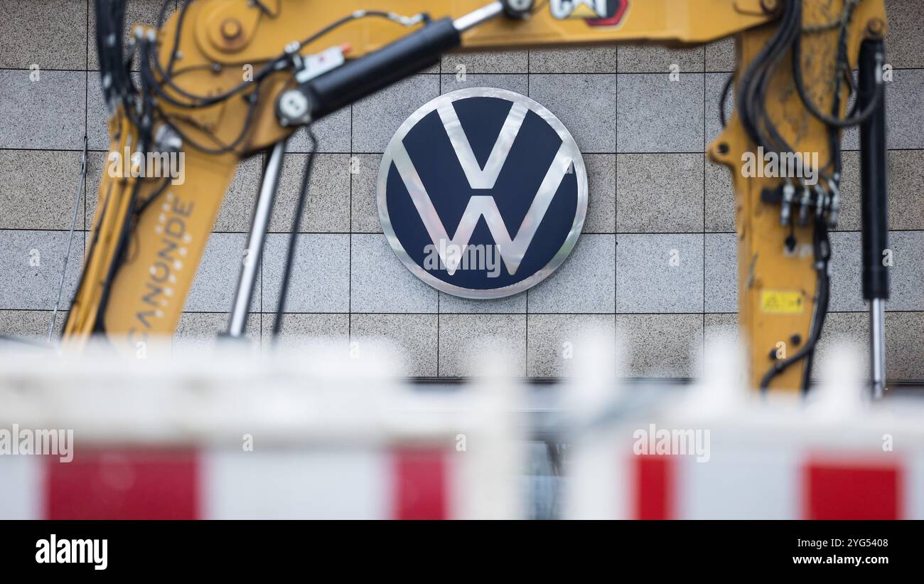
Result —
<instances>
[{"instance_id":1,"label":"silver V and W letters inside the round blue logo","mask_svg":"<svg viewBox=\"0 0 924 584\"><path fill-rule=\"evenodd\" d=\"M510 148L513 146L514 140L517 139L519 128L527 114L526 106L514 103L513 107L510 108L504 127L501 128L501 133L497 141L494 142L491 154L488 156L488 161L483 168L475 159L471 144L468 142L452 103L446 103L439 107L438 112L440 119L443 121L446 135L456 151L459 164L462 166L466 178L468 178L469 187L472 189L492 189L497 181L497 176L500 175L501 169L504 167L507 154L510 153ZM532 238L535 237L536 231L542 223L542 218L549 209L549 204L552 203L562 179L568 173L572 164L571 157L565 154L565 143L563 142L558 152L555 153L552 165L549 166L549 170L545 173L539 190L536 191L536 196L529 205L529 211L523 218L523 223L517 229L516 237L510 237L510 233L504 225L504 219L501 217L501 212L497 208L497 203L489 195L474 195L468 200L465 213L462 213L462 219L456 227L455 235L449 237L443 221L433 207L430 195L427 194L427 189L420 180L414 163L411 162L410 156L407 155L404 144L398 143L396 146L394 152L395 168L397 168L398 174L401 175L401 179L404 181L411 201L414 201L414 207L427 229L427 234L430 236L434 247L439 250L440 259L446 266L446 272L450 275L456 273L456 268L461 258L465 255L465 250L468 246L468 241L471 239L471 234L475 230L475 225L478 225L478 221L482 216L491 231L491 237L494 238L497 250L504 260L507 272L516 274L520 262L523 262L526 250L529 249ZM447 254L447 249L459 249L461 253Z\"/></svg>"}]
</instances>

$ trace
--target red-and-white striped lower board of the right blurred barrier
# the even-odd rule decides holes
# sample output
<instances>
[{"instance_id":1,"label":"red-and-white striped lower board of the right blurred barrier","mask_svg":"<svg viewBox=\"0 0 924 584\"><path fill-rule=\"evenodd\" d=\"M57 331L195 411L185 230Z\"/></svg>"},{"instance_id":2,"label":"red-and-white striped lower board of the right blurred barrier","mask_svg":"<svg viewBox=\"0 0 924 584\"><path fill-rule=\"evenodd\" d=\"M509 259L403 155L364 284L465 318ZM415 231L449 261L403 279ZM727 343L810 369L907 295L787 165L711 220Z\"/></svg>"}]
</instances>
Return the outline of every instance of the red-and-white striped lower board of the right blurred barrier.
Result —
<instances>
[{"instance_id":1,"label":"red-and-white striped lower board of the right blurred barrier","mask_svg":"<svg viewBox=\"0 0 924 584\"><path fill-rule=\"evenodd\" d=\"M768 432L768 438L772 437ZM572 517L639 519L924 518L924 456L793 444L774 448L713 441L708 462L696 456L632 454L632 444L590 456L572 468L572 485L597 483L572 505ZM780 435L782 437L782 435ZM602 493L608 485L609 493Z\"/></svg>"}]
</instances>

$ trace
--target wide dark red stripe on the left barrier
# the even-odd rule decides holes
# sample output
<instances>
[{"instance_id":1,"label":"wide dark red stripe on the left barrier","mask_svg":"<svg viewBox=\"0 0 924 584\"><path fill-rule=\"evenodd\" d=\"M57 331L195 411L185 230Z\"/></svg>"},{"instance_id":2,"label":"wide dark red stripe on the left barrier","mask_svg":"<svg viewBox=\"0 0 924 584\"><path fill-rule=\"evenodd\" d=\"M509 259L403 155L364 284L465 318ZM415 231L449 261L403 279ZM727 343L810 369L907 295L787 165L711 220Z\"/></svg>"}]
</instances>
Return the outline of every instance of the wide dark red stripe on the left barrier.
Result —
<instances>
[{"instance_id":1,"label":"wide dark red stripe on the left barrier","mask_svg":"<svg viewBox=\"0 0 924 584\"><path fill-rule=\"evenodd\" d=\"M71 462L48 457L49 519L198 517L197 456L188 450L79 450Z\"/></svg>"}]
</instances>

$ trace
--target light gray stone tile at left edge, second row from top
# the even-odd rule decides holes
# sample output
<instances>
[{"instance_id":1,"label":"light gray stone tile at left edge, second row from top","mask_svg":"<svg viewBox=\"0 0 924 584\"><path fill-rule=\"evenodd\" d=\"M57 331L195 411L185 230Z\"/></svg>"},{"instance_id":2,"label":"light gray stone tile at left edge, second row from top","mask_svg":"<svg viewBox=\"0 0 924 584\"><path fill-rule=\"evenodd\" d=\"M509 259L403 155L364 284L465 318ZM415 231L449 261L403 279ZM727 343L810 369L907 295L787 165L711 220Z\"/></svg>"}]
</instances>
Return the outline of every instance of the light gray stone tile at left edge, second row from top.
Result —
<instances>
[{"instance_id":1,"label":"light gray stone tile at left edge, second row from top","mask_svg":"<svg viewBox=\"0 0 924 584\"><path fill-rule=\"evenodd\" d=\"M87 73L0 70L0 148L82 150Z\"/></svg>"}]
</instances>

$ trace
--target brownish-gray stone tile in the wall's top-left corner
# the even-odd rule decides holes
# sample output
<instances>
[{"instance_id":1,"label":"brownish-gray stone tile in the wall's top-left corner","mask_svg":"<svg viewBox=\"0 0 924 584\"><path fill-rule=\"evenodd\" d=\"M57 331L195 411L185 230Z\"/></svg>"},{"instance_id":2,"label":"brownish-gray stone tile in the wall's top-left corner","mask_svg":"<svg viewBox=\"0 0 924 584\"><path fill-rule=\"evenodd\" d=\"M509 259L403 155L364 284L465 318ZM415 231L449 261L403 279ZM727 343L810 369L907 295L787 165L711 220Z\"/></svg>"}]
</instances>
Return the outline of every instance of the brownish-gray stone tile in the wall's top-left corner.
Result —
<instances>
[{"instance_id":1,"label":"brownish-gray stone tile in the wall's top-left corner","mask_svg":"<svg viewBox=\"0 0 924 584\"><path fill-rule=\"evenodd\" d=\"M4 2L0 67L84 69L87 5L80 0Z\"/></svg>"}]
</instances>

